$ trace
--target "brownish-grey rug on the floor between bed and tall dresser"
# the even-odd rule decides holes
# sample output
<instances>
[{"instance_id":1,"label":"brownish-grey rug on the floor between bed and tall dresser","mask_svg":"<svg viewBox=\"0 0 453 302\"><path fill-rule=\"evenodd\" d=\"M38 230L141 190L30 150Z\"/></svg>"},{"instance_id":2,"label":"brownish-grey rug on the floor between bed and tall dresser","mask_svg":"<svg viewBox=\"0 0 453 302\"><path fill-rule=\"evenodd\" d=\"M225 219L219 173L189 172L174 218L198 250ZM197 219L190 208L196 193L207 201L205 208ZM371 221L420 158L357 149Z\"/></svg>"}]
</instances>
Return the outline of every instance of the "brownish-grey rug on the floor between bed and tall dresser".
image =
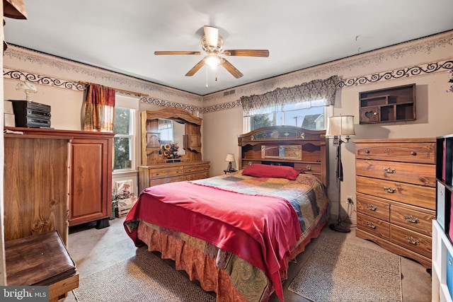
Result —
<instances>
[{"instance_id":1,"label":"brownish-grey rug on the floor between bed and tall dresser","mask_svg":"<svg viewBox=\"0 0 453 302\"><path fill-rule=\"evenodd\" d=\"M401 302L400 257L326 237L288 289L316 302Z\"/></svg>"}]
</instances>

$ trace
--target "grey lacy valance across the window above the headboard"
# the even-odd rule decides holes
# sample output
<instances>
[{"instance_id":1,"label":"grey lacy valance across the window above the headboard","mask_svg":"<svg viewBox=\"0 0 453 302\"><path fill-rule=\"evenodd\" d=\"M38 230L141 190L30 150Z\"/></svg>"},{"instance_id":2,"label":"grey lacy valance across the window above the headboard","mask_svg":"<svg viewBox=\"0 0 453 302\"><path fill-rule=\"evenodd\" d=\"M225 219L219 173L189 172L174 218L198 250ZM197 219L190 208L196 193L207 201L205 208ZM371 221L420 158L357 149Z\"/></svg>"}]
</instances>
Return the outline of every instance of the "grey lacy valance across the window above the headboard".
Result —
<instances>
[{"instance_id":1,"label":"grey lacy valance across the window above the headboard","mask_svg":"<svg viewBox=\"0 0 453 302\"><path fill-rule=\"evenodd\" d=\"M308 103L311 106L328 106L335 104L336 83L338 76L325 80L313 80L289 88L277 88L262 95L241 97L243 116L262 114L265 108L277 105Z\"/></svg>"}]
</instances>

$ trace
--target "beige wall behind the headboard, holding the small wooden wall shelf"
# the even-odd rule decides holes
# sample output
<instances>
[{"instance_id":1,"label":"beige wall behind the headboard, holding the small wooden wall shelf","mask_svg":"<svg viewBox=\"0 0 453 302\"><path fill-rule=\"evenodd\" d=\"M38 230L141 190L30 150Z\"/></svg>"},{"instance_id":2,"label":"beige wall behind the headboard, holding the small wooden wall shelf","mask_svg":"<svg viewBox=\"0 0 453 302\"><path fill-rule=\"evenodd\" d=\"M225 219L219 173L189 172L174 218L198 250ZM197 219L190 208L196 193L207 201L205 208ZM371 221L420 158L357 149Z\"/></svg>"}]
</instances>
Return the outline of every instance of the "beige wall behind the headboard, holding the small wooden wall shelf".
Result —
<instances>
[{"instance_id":1,"label":"beige wall behind the headboard, holding the small wooden wall shelf","mask_svg":"<svg viewBox=\"0 0 453 302\"><path fill-rule=\"evenodd\" d=\"M203 112L205 135L203 144L209 150L212 174L222 173L224 157L232 152L232 144L241 133L241 107L235 107L241 95L259 95L277 87L290 87L313 79L327 79L337 74L341 81L336 92L333 115L354 115L353 139L438 137L453 133L450 122L453 112L453 93L449 87L448 69L453 68L453 32L435 35L382 50L357 54L354 57L296 71L266 81L234 88L234 93L205 95ZM362 91L416 84L416 115L413 122L359 124L359 99ZM231 122L234 121L234 122ZM226 126L228 125L228 126ZM219 136L222 140L219 140ZM343 212L355 223L355 207L348 208L347 197L355 202L355 145L353 139L343 144L343 182L341 201ZM333 201L332 213L338 209L338 188L335 180L336 151L331 139L329 152L328 195ZM234 152L233 152L234 153ZM236 149L234 155L238 156ZM215 156L215 158L214 158Z\"/></svg>"}]
</instances>

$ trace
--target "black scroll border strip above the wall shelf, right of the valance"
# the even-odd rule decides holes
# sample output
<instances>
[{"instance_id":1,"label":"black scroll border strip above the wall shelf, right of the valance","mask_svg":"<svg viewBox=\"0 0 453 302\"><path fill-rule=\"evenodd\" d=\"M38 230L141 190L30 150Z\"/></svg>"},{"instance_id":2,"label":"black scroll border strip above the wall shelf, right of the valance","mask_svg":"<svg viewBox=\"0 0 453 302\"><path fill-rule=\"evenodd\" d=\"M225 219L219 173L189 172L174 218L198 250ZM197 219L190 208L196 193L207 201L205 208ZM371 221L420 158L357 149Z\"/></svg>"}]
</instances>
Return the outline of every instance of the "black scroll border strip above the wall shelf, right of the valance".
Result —
<instances>
[{"instance_id":1,"label":"black scroll border strip above the wall shelf, right of the valance","mask_svg":"<svg viewBox=\"0 0 453 302\"><path fill-rule=\"evenodd\" d=\"M432 74L441 69L453 69L453 61L445 61L443 63L433 62L425 66L412 66L404 69L386 71L382 74L372 74L369 76L359 76L357 78L341 80L337 83L338 88L357 86L367 83L375 83L381 80L400 79L408 76L418 76L420 74Z\"/></svg>"}]
</instances>

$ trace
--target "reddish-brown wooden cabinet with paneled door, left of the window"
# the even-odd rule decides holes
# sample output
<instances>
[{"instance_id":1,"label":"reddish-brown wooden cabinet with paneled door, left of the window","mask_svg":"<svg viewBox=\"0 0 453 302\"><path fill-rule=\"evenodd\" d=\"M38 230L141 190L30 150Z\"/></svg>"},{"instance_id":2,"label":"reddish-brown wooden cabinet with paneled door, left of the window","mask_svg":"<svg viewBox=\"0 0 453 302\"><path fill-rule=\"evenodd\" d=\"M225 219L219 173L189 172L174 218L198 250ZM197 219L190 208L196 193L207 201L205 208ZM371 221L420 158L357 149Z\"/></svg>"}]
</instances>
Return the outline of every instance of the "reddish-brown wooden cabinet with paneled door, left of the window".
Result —
<instances>
[{"instance_id":1,"label":"reddish-brown wooden cabinet with paneled door, left of the window","mask_svg":"<svg viewBox=\"0 0 453 302\"><path fill-rule=\"evenodd\" d=\"M114 133L40 128L6 129L42 137L69 138L69 226L91 221L97 222L97 228L109 226L108 219L112 213Z\"/></svg>"}]
</instances>

